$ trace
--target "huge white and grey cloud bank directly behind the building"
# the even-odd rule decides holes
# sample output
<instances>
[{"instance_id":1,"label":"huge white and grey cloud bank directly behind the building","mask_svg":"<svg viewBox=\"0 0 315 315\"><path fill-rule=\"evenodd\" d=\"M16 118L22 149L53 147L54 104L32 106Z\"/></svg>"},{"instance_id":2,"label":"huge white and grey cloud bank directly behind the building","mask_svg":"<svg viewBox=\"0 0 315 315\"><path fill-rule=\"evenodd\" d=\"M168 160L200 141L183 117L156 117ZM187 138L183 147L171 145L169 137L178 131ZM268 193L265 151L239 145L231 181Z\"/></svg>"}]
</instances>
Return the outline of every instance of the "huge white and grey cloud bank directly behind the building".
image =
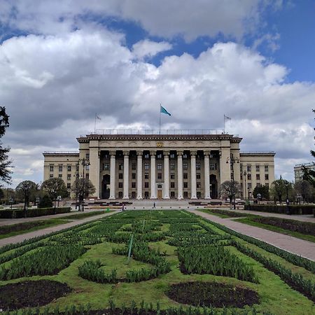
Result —
<instances>
[{"instance_id":1,"label":"huge white and grey cloud bank directly behind the building","mask_svg":"<svg viewBox=\"0 0 315 315\"><path fill-rule=\"evenodd\" d=\"M16 178L42 181L43 151L76 151L76 137L97 129L222 129L244 137L242 151L276 151L276 174L309 158L315 85L285 83L288 69L236 43L160 66L134 59L123 36L94 28L59 36L10 38L0 46L0 104L10 115L3 138ZM21 80L27 73L43 85ZM283 163L286 161L286 164ZM291 163L291 164L290 164ZM290 170L290 174L293 169Z\"/></svg>"}]
</instances>

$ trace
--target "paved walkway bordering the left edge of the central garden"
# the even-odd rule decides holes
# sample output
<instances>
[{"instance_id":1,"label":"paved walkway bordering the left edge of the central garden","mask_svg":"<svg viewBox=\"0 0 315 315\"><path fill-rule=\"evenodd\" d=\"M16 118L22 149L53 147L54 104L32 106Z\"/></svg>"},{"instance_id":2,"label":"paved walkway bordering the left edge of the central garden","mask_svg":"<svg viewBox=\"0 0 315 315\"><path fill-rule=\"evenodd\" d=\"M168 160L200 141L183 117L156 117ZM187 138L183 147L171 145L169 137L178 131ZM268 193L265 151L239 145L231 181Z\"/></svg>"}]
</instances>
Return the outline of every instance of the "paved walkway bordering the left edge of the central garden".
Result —
<instances>
[{"instance_id":1,"label":"paved walkway bordering the left edge of the central garden","mask_svg":"<svg viewBox=\"0 0 315 315\"><path fill-rule=\"evenodd\" d=\"M115 214L117 211L114 212L109 212L108 214L100 214L99 216L90 216L90 218L85 218L82 220L76 220L70 223L65 223L62 225L57 225L53 226L51 228L45 228L43 230L37 230L34 232L29 232L21 235L16 235L14 237L6 237L6 239L0 239L0 247L8 244L16 244L19 243L20 241L24 241L25 239L32 239L33 237L38 237L42 235L49 234L51 232L57 232L57 231L62 231L67 228L72 228L73 226L80 225L83 223L87 223L90 221L94 221L100 218L104 218L106 216L111 216L112 214Z\"/></svg>"}]
</instances>

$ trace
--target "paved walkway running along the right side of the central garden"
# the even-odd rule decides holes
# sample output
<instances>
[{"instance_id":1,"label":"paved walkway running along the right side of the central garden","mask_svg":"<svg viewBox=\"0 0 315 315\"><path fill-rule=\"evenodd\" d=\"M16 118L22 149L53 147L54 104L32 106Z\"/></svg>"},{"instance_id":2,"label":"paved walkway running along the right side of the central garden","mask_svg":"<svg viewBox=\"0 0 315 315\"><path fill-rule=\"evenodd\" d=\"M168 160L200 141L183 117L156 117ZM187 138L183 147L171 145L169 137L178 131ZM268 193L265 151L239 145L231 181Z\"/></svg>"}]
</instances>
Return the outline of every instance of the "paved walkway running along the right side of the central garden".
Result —
<instances>
[{"instance_id":1,"label":"paved walkway running along the right side of the central garden","mask_svg":"<svg viewBox=\"0 0 315 315\"><path fill-rule=\"evenodd\" d=\"M303 239L297 239L289 235L276 233L262 228L257 228L244 223L239 223L231 220L231 218L219 218L218 216L212 216L211 214L205 214L204 212L197 210L188 210L193 214L197 214L202 218L207 218L210 221L225 225L227 228L239 232L244 235L248 235L255 239L260 239L266 243L272 244L276 247L284 249L290 253L295 253L309 260L315 261L315 243L311 241L304 241Z\"/></svg>"}]
</instances>

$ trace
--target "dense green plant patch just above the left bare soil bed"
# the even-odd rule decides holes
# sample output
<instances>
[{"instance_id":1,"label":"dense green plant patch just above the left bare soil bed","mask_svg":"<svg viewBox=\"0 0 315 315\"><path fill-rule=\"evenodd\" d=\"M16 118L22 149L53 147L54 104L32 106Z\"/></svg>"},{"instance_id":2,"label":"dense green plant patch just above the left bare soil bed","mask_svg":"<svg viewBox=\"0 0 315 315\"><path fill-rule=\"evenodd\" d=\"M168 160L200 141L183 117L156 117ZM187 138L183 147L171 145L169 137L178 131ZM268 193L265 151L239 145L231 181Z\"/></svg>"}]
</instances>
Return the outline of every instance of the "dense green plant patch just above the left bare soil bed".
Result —
<instances>
[{"instance_id":1,"label":"dense green plant patch just above the left bare soil bed","mask_svg":"<svg viewBox=\"0 0 315 315\"><path fill-rule=\"evenodd\" d=\"M16 258L11 262L10 267L1 267L0 280L57 274L85 251L86 248L83 246L73 244L39 248L37 251Z\"/></svg>"}]
</instances>

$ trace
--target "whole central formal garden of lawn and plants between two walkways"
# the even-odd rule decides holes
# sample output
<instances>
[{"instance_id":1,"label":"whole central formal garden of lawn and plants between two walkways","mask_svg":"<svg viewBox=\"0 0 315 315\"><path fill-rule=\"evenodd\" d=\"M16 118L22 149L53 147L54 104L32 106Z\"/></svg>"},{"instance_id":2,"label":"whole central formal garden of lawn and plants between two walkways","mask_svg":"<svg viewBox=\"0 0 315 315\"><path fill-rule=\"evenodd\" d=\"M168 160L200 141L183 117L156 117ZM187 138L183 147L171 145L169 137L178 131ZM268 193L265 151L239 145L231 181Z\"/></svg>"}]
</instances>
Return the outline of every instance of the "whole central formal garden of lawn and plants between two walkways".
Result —
<instances>
[{"instance_id":1,"label":"whole central formal garden of lawn and plants between two walkways","mask_svg":"<svg viewBox=\"0 0 315 315\"><path fill-rule=\"evenodd\" d=\"M1 314L312 314L315 262L187 211L0 248Z\"/></svg>"}]
</instances>

